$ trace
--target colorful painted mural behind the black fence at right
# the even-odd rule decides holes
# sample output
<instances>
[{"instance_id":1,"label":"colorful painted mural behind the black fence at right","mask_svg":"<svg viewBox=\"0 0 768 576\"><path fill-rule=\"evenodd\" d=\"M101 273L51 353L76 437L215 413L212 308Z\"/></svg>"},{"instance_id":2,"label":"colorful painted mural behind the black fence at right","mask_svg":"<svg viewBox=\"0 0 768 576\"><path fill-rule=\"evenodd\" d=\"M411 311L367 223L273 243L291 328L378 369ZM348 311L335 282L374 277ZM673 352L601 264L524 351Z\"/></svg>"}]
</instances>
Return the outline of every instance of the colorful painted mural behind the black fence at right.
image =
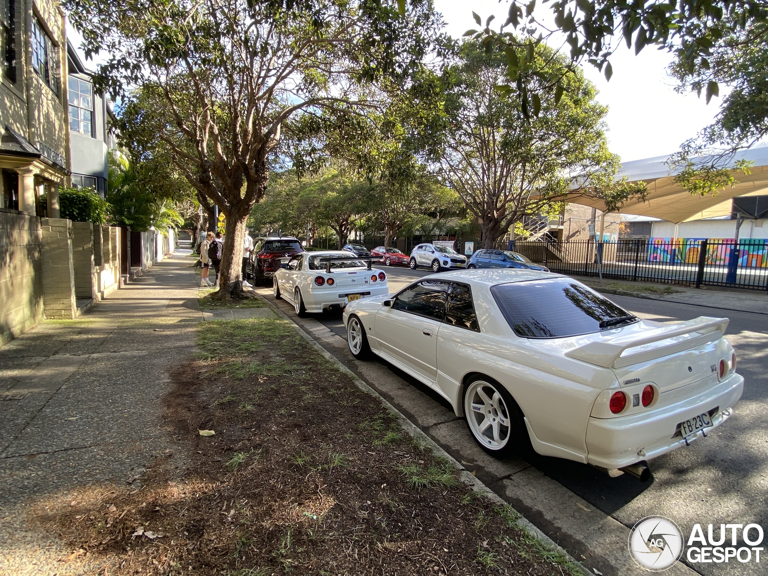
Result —
<instances>
[{"instance_id":1,"label":"colorful painted mural behind the black fence at right","mask_svg":"<svg viewBox=\"0 0 768 576\"><path fill-rule=\"evenodd\" d=\"M701 241L707 240L707 264L727 266L739 250L738 266L768 267L768 240L764 238L651 238L649 262L698 263Z\"/></svg>"}]
</instances>

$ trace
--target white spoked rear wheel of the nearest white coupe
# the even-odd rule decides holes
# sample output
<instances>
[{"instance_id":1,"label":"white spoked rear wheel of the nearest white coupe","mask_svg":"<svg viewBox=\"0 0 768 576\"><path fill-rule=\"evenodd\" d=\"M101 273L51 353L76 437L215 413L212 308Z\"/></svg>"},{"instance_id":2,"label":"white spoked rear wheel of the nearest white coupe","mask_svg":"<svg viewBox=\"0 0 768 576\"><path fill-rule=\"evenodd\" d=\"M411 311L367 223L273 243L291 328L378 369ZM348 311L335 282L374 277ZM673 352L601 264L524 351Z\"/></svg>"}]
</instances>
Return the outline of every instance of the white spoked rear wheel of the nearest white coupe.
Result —
<instances>
[{"instance_id":1,"label":"white spoked rear wheel of the nearest white coupe","mask_svg":"<svg viewBox=\"0 0 768 576\"><path fill-rule=\"evenodd\" d=\"M475 380L464 397L469 429L483 448L494 452L504 449L511 435L510 412L497 386Z\"/></svg>"}]
</instances>

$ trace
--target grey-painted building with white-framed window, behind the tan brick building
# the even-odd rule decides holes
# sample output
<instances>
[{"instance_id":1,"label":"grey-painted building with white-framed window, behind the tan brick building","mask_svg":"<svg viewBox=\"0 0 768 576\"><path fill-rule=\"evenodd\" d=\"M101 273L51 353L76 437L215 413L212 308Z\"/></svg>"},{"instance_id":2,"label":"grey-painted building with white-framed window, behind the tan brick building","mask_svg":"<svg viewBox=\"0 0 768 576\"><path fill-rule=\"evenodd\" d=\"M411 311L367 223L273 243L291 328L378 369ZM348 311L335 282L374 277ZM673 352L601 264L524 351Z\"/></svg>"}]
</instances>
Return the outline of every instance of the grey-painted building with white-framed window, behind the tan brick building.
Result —
<instances>
[{"instance_id":1,"label":"grey-painted building with white-framed window, behind the tan brick building","mask_svg":"<svg viewBox=\"0 0 768 576\"><path fill-rule=\"evenodd\" d=\"M93 74L67 41L67 88L72 186L107 191L108 152L115 147L111 102L94 92Z\"/></svg>"}]
</instances>

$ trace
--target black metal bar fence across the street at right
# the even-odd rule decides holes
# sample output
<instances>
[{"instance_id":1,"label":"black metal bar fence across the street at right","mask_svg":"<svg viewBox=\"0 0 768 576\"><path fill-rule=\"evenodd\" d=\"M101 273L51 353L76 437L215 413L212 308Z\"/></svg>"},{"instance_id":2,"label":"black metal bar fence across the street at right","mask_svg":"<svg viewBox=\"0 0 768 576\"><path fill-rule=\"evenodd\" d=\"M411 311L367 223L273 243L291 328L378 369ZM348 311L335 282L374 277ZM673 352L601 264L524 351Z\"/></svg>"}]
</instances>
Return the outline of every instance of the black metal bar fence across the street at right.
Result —
<instances>
[{"instance_id":1,"label":"black metal bar fence across the street at right","mask_svg":"<svg viewBox=\"0 0 768 576\"><path fill-rule=\"evenodd\" d=\"M516 241L512 247L552 272L684 286L768 290L768 240Z\"/></svg>"}]
</instances>

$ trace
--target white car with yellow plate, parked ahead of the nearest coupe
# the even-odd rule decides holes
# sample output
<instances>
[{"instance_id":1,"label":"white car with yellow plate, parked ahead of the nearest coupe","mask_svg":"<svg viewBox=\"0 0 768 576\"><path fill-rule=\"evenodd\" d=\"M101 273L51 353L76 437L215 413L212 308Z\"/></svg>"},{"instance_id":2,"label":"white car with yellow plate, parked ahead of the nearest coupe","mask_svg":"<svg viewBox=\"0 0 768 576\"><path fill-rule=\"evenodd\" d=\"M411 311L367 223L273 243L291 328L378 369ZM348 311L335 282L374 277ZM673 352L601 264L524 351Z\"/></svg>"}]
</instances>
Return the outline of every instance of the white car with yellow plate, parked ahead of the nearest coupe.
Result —
<instances>
[{"instance_id":1,"label":"white car with yellow plate, parked ahead of the nearest coupe","mask_svg":"<svg viewBox=\"0 0 768 576\"><path fill-rule=\"evenodd\" d=\"M335 261L327 262L327 259ZM274 276L275 298L293 303L298 316L342 310L349 302L389 293L386 273L346 250L303 252L290 258Z\"/></svg>"}]
</instances>

